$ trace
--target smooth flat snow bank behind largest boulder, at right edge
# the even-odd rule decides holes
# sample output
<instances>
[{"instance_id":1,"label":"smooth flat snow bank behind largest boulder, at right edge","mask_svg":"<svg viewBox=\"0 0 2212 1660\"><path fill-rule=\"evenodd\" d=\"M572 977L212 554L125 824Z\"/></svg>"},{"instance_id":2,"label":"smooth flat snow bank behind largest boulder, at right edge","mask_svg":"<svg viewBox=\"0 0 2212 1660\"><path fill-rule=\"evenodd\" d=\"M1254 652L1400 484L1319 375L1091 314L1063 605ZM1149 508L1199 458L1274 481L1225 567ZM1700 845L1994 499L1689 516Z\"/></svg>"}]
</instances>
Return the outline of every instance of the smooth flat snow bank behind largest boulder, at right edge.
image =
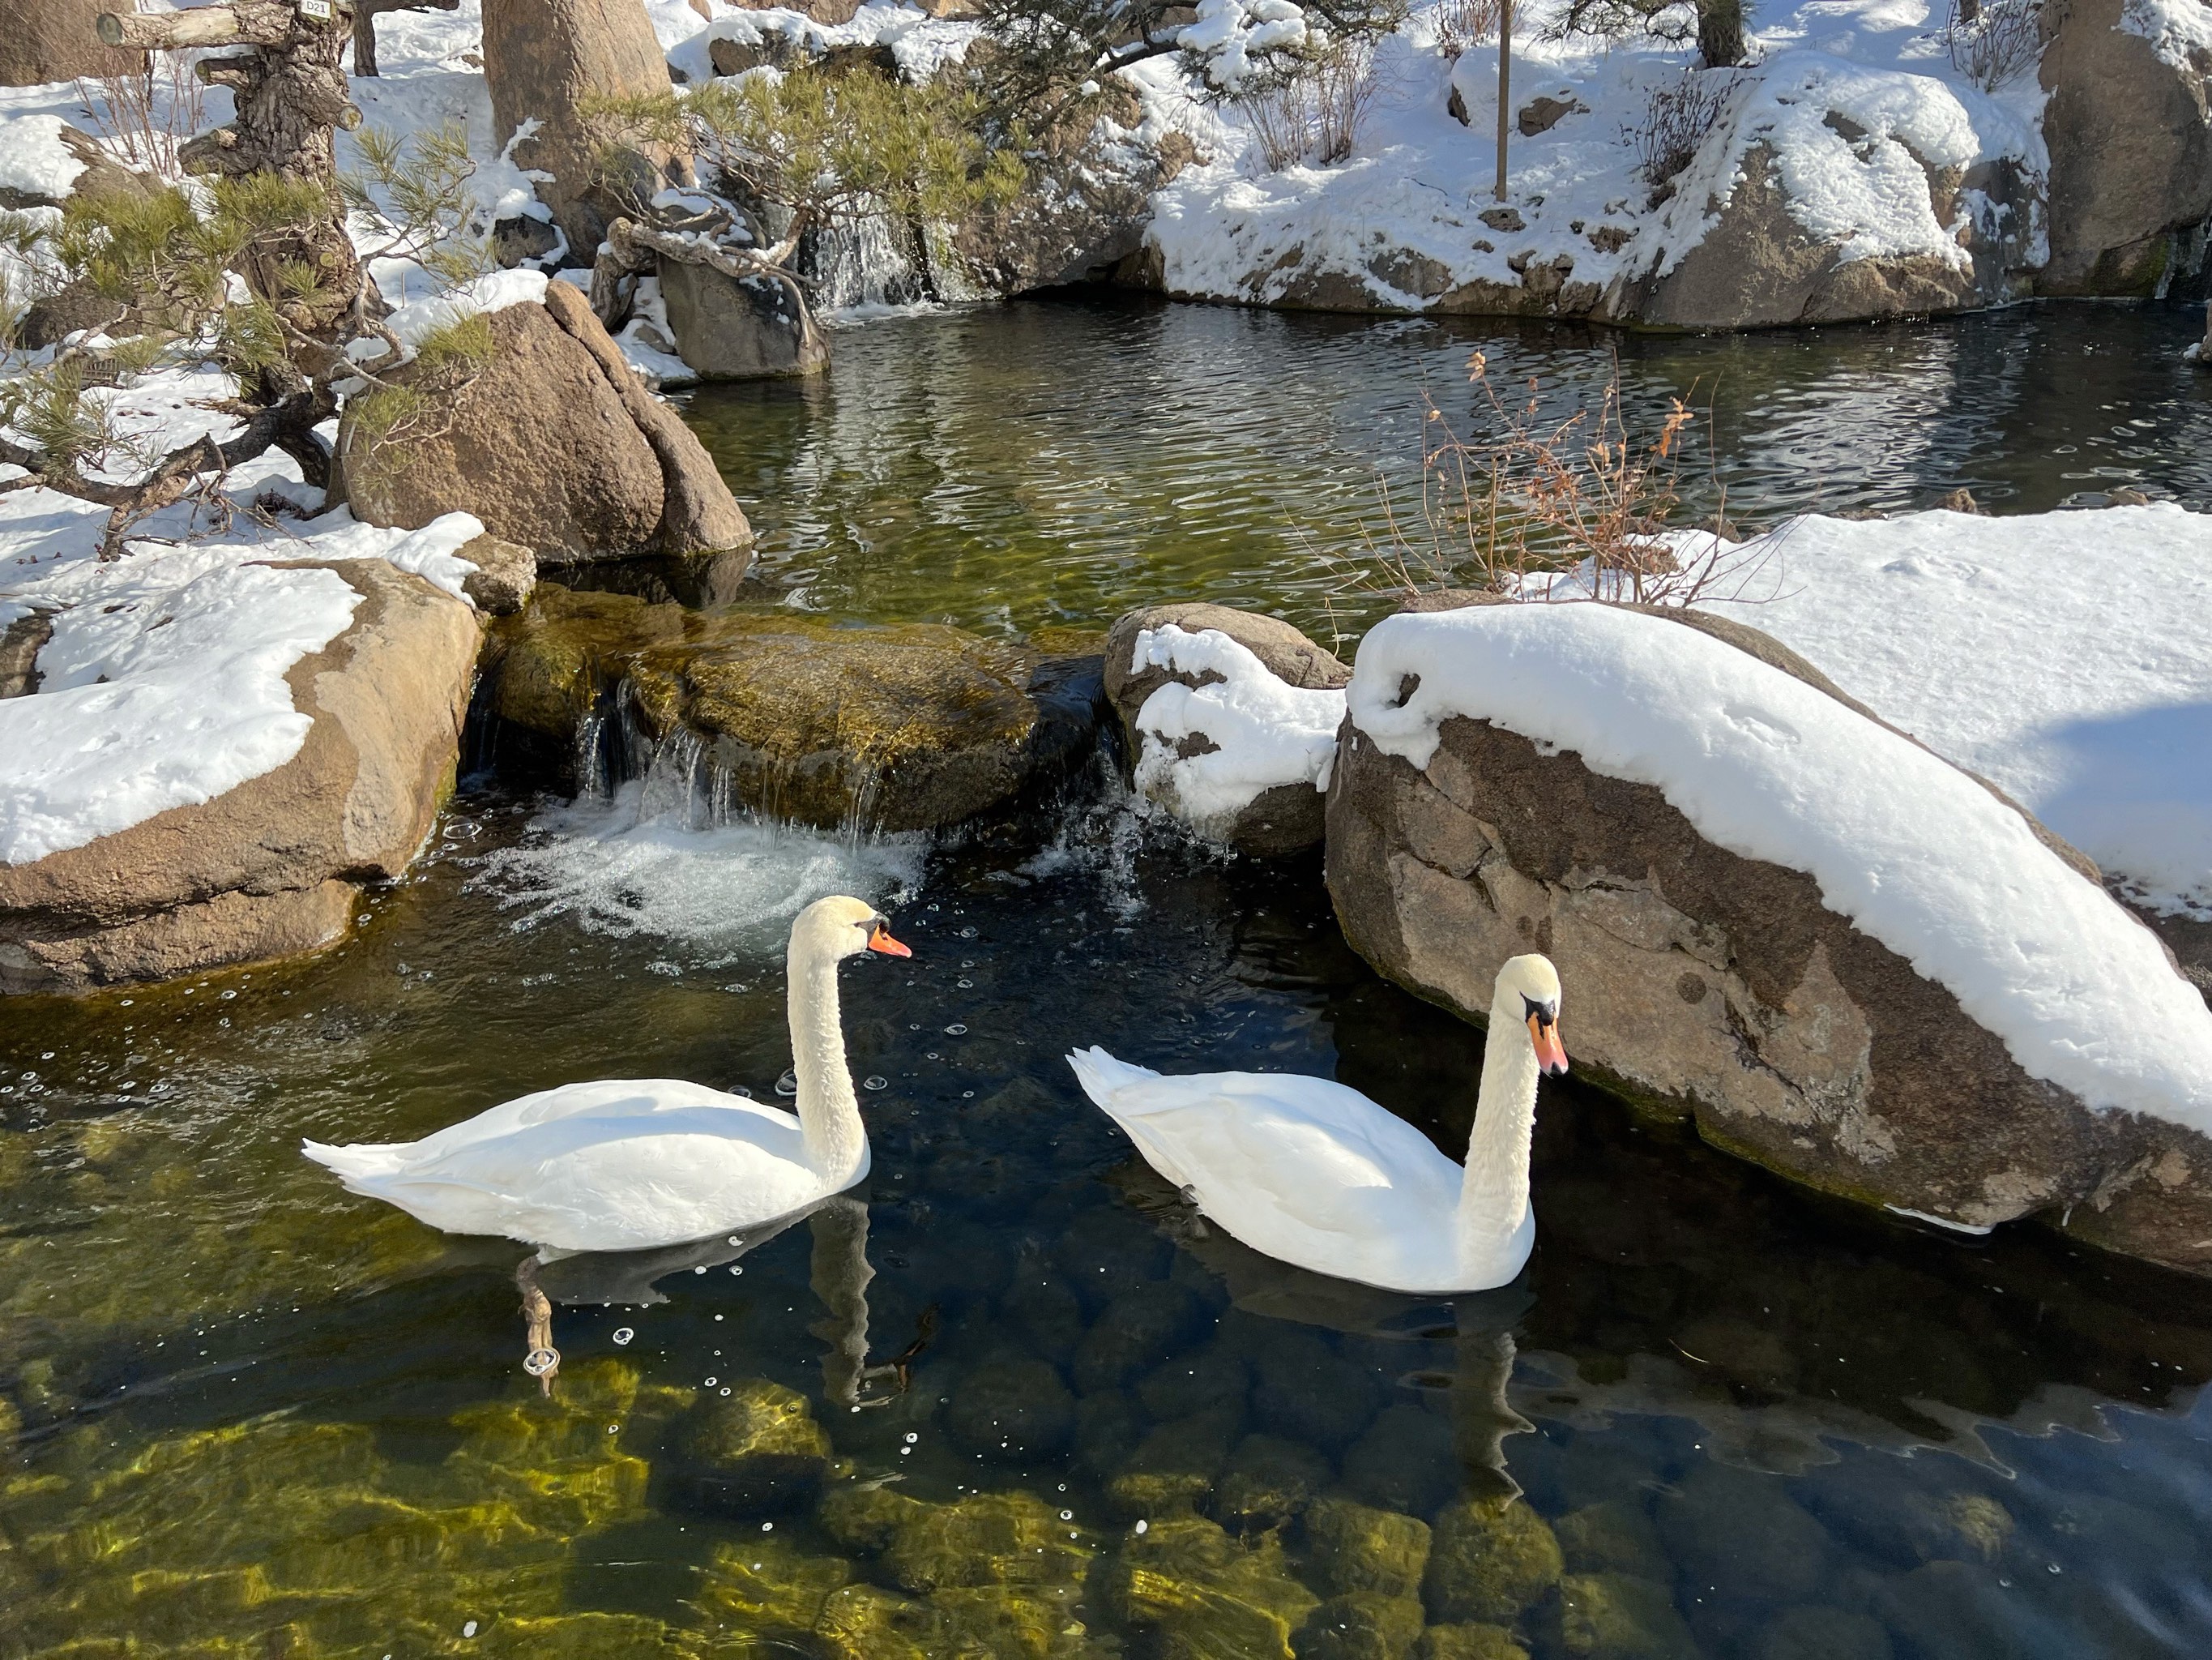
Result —
<instances>
[{"instance_id":1,"label":"smooth flat snow bank behind largest boulder, at right edge","mask_svg":"<svg viewBox=\"0 0 2212 1660\"><path fill-rule=\"evenodd\" d=\"M1770 542L1774 598L1714 611L1986 777L2130 899L2212 919L2212 516L1801 518Z\"/></svg>"}]
</instances>

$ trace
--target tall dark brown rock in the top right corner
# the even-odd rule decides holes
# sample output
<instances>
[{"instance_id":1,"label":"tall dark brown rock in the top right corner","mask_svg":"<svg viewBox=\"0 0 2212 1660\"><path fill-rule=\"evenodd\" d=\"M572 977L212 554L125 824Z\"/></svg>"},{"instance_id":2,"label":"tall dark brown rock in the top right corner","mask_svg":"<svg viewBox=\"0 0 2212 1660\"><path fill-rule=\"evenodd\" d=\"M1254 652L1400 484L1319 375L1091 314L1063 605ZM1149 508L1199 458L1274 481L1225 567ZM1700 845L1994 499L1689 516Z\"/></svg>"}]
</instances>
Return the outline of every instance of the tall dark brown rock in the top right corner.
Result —
<instances>
[{"instance_id":1,"label":"tall dark brown rock in the top right corner","mask_svg":"<svg viewBox=\"0 0 2212 1660\"><path fill-rule=\"evenodd\" d=\"M2212 212L2212 62L2177 69L2121 29L2126 0L2064 0L2037 71L2051 148L2053 294L2148 294L2172 235Z\"/></svg>"}]
</instances>

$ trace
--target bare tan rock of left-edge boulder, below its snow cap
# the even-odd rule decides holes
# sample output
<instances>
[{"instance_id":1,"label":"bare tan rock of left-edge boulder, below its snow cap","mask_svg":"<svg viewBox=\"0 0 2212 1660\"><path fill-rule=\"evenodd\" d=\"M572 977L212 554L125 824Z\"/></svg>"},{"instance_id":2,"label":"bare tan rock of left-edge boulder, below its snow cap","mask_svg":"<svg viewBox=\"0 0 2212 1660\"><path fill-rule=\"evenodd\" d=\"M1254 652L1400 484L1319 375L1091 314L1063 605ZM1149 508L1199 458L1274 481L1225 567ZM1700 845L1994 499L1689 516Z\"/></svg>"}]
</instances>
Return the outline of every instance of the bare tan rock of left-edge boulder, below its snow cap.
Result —
<instances>
[{"instance_id":1,"label":"bare tan rock of left-edge boulder, below its snow cap","mask_svg":"<svg viewBox=\"0 0 2212 1660\"><path fill-rule=\"evenodd\" d=\"M84 992L325 945L398 876L453 777L476 615L380 560L334 560L354 620L285 677L290 761L212 801L0 865L0 992Z\"/></svg>"}]
</instances>

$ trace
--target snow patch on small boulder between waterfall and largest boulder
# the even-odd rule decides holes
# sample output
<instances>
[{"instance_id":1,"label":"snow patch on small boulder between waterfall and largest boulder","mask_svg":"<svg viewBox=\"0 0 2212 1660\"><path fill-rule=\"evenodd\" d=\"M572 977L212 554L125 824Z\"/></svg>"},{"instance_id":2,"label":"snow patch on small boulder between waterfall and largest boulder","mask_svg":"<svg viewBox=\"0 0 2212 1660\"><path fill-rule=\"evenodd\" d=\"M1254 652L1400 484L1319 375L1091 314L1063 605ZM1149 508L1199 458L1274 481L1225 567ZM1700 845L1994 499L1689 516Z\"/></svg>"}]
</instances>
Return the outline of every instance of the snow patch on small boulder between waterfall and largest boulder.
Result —
<instances>
[{"instance_id":1,"label":"snow patch on small boulder between waterfall and largest boulder","mask_svg":"<svg viewBox=\"0 0 2212 1660\"><path fill-rule=\"evenodd\" d=\"M1186 633L1172 622L1137 635L1130 673L1146 668L1219 679L1201 686L1170 679L1144 699L1137 710L1139 795L1206 834L1225 834L1263 790L1279 784L1329 788L1336 726L1345 717L1340 691L1290 686L1219 629ZM1179 757L1181 739L1199 735L1217 748Z\"/></svg>"}]
</instances>

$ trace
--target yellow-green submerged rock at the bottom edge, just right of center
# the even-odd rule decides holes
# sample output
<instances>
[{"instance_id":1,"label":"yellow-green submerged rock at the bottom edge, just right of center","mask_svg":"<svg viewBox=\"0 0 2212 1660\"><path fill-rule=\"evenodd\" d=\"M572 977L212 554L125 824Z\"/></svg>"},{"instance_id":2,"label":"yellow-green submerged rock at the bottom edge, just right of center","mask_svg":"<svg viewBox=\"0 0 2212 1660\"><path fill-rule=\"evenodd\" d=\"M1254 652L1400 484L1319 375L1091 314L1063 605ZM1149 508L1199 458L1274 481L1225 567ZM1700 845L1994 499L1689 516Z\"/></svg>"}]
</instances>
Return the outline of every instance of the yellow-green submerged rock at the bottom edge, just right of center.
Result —
<instances>
[{"instance_id":1,"label":"yellow-green submerged rock at the bottom edge, just right of center","mask_svg":"<svg viewBox=\"0 0 2212 1660\"><path fill-rule=\"evenodd\" d=\"M1245 1545L1201 1516L1133 1532L1108 1569L1106 1600L1164 1660L1290 1660L1290 1633L1318 1605L1272 1534Z\"/></svg>"}]
</instances>

